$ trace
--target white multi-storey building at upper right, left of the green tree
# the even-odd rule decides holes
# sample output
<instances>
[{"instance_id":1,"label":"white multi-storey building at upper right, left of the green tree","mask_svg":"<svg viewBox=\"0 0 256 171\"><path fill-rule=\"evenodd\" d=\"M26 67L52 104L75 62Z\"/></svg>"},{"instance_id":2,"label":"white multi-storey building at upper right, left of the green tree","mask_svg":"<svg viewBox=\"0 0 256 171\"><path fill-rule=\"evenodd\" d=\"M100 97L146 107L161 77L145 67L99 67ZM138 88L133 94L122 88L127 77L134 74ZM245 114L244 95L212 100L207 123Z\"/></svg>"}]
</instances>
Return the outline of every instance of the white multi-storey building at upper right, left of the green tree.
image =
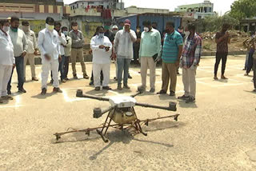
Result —
<instances>
[{"instance_id":1,"label":"white multi-storey building at upper right, left of the green tree","mask_svg":"<svg viewBox=\"0 0 256 171\"><path fill-rule=\"evenodd\" d=\"M210 1L178 6L178 8L176 8L175 11L182 12L185 18L194 19L201 19L206 18L207 16L215 15L214 3L211 3Z\"/></svg>"}]
</instances>

